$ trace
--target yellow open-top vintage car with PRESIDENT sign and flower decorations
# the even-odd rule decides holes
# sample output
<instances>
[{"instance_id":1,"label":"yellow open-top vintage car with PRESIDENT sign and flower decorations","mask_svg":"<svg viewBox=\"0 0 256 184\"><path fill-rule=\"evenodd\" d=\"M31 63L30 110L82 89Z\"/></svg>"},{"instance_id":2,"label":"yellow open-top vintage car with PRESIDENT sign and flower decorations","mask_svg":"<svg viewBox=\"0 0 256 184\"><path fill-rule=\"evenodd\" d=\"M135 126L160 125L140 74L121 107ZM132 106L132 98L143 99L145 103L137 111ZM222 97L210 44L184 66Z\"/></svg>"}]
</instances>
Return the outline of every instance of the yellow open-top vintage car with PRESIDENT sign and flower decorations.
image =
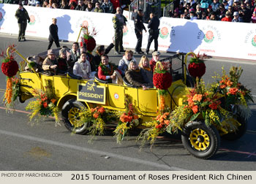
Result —
<instances>
[{"instance_id":1,"label":"yellow open-top vintage car with PRESIDENT sign and flower decorations","mask_svg":"<svg viewBox=\"0 0 256 184\"><path fill-rule=\"evenodd\" d=\"M165 131L170 134L179 132L189 153L197 158L211 158L217 153L220 137L235 140L244 134L246 120L249 117L248 114L244 114L248 110L247 102L252 98L248 97L250 91L238 83L241 69L230 69L230 76L222 74L217 83L206 89L203 81L198 78L193 80L189 75L196 69L194 65L202 65L202 61L193 54L190 69L187 69L187 55L172 55L157 63L154 76L159 74L158 77L161 78L167 74L172 80L167 88L161 88L161 84L157 84L157 77L154 77L155 88L143 90L129 85L125 79L124 85L118 85L99 80L97 76L94 80L82 80L68 73L64 76L49 75L31 69L19 73L18 98L20 102L24 102L41 95L42 99L45 96L36 91L50 90L54 96L54 101L51 99L52 103L61 110L61 121L75 134L86 134L92 120L99 123L99 115L104 119L103 112L107 110L126 112L120 114L120 119L116 122L111 120L104 124L119 127L116 131L119 138L121 135L122 139L126 133L124 129L129 128L141 129L139 139L143 139L144 143L148 140L153 143L157 136ZM178 69L165 69L162 65L166 61L172 64L175 59L181 64ZM205 71L205 66L200 70L203 69ZM165 79L165 76L162 79ZM230 95L233 95L231 102ZM40 105L50 107L43 101ZM90 110L87 112L94 117L90 119L91 122L84 120L81 123L82 110ZM134 122L133 127L130 122Z\"/></svg>"}]
</instances>

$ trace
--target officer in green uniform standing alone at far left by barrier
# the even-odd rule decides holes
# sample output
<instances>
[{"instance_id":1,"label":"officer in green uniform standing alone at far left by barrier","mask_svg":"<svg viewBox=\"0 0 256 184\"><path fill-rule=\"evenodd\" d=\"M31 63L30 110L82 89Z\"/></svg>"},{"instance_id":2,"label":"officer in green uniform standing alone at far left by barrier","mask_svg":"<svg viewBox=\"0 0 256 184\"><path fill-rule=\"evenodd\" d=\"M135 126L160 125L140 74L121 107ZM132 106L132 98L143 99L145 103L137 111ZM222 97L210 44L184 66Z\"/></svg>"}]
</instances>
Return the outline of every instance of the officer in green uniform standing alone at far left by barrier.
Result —
<instances>
[{"instance_id":1,"label":"officer in green uniform standing alone at far left by barrier","mask_svg":"<svg viewBox=\"0 0 256 184\"><path fill-rule=\"evenodd\" d=\"M19 8L17 9L15 13L15 18L18 19L18 26L19 26L19 35L18 35L18 42L20 42L21 39L25 38L25 31L26 31L26 20L28 20L28 23L30 22L29 14L26 11L25 8L23 8L23 4L19 4Z\"/></svg>"}]
</instances>

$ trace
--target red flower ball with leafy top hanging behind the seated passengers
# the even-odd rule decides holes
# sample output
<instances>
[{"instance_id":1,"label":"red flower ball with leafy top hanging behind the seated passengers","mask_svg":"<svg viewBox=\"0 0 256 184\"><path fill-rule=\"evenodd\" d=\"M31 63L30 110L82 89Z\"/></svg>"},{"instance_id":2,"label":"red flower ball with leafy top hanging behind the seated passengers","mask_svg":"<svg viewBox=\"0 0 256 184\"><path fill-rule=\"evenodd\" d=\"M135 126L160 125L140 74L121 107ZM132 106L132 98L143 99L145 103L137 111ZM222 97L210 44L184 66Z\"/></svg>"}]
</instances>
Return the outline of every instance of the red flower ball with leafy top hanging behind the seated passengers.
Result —
<instances>
[{"instance_id":1,"label":"red flower ball with leafy top hanging behind the seated passengers","mask_svg":"<svg viewBox=\"0 0 256 184\"><path fill-rule=\"evenodd\" d=\"M89 51L89 53L91 53L96 47L96 41L94 39L94 36L97 35L97 31L95 28L93 28L92 31L89 32L88 26L82 26L81 30L82 29L85 31L83 31L83 36L80 37L81 39L80 46L82 47L83 45L86 45L87 50Z\"/></svg>"}]
</instances>

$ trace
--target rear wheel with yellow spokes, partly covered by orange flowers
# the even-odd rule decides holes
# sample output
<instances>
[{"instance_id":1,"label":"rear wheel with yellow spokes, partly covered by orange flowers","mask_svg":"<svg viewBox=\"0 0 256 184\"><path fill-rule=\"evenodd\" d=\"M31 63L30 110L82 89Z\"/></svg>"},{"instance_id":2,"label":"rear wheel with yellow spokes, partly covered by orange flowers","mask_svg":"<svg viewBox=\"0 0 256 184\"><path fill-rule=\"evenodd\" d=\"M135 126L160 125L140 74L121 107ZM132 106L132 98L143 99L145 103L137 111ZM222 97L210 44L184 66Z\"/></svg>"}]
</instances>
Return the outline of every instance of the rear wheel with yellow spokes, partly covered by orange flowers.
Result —
<instances>
[{"instance_id":1,"label":"rear wheel with yellow spokes, partly covered by orange flowers","mask_svg":"<svg viewBox=\"0 0 256 184\"><path fill-rule=\"evenodd\" d=\"M75 120L79 120L80 117L76 116L76 112L78 112L81 107L86 107L84 104L82 104L80 101L76 101L75 99L69 99L62 107L61 110L61 117L64 122L64 126L69 131L74 132L75 134L86 134L88 132L88 127L90 126L90 123L84 123L83 126L80 126L78 128L75 128L73 126L73 123L75 123ZM71 120L70 120L71 117ZM72 123L73 121L73 123Z\"/></svg>"}]
</instances>

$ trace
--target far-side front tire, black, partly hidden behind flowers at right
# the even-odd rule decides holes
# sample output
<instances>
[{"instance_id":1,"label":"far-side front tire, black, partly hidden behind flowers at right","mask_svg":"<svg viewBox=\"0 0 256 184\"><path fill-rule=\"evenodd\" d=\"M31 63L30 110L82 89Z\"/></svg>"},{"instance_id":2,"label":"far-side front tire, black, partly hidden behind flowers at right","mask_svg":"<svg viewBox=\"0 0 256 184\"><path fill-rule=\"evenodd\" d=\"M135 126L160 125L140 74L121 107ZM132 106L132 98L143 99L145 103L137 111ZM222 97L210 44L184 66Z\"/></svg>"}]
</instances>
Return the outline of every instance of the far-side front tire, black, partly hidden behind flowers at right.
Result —
<instances>
[{"instance_id":1,"label":"far-side front tire, black, partly hidden behind flowers at right","mask_svg":"<svg viewBox=\"0 0 256 184\"><path fill-rule=\"evenodd\" d=\"M241 117L241 115L238 115L236 119L241 124L241 126L238 126L238 129L235 132L223 135L222 139L234 141L240 139L246 133L248 124L247 121L243 117Z\"/></svg>"}]
</instances>

